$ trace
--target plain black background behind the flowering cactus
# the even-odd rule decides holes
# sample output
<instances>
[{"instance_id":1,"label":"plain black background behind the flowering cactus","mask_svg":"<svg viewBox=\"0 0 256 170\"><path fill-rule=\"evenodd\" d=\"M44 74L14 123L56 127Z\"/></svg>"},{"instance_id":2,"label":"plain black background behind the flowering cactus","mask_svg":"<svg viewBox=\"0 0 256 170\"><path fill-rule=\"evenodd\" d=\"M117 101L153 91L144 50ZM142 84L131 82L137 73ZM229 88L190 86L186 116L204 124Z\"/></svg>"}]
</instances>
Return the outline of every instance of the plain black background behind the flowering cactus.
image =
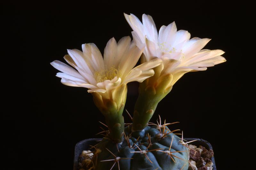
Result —
<instances>
[{"instance_id":1,"label":"plain black background behind the flowering cactus","mask_svg":"<svg viewBox=\"0 0 256 170\"><path fill-rule=\"evenodd\" d=\"M2 114L2 121L6 123L2 128L6 139L2 145L6 159L3 166L7 169L72 169L75 144L96 137L100 131L98 121L104 122L104 117L85 88L60 83L60 78L55 77L58 71L50 62L64 62L66 49L81 50L83 43L93 42L103 52L110 38L118 41L123 36L131 36L125 12L139 18L143 13L151 15L158 30L175 21L178 30L188 30L191 38L211 38L206 49L226 52L223 56L227 62L206 71L185 74L159 103L151 122L156 121L158 114L167 122L181 122L170 128L182 129L184 137L209 141L218 169L240 169L239 165L244 166L244 150L253 151L252 146L241 147L241 141L252 139L245 134L247 125L254 127L246 118L248 113L243 105L246 99L241 97L246 79L241 67L246 64L243 59L248 57L248 48L244 48L248 41L244 37L250 38L253 34L250 33L253 30L247 29L252 21L251 10L240 4L216 1L120 3L3 6L1 18L12 37L5 41L5 45L12 48L7 58L15 59L22 67L15 70L19 76L12 77L16 79L12 83L14 97L7 99L12 105ZM137 89L138 83L128 84L125 108L130 113ZM125 112L124 117L130 122Z\"/></svg>"}]
</instances>

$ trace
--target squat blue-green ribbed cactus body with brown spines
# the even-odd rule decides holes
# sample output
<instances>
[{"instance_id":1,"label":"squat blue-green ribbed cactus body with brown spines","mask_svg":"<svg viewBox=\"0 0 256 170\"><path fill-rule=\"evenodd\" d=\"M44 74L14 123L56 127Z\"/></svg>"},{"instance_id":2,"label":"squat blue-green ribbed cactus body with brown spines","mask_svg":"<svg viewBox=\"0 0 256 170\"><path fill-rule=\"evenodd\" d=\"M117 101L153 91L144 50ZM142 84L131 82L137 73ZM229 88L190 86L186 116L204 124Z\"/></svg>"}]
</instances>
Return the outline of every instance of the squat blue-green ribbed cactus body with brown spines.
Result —
<instances>
[{"instance_id":1,"label":"squat blue-green ribbed cactus body with brown spines","mask_svg":"<svg viewBox=\"0 0 256 170\"><path fill-rule=\"evenodd\" d=\"M117 170L118 165L121 170L188 169L188 148L180 143L180 137L169 133L162 138L158 126L155 125L134 132L131 132L131 129L131 125L125 127L126 137L122 143L116 144L106 137L96 145L96 148L101 150L93 159L96 170L110 170L111 168ZM161 131L163 130L164 128L161 128ZM164 131L171 132L167 127ZM164 134L164 132L162 133ZM168 151L171 143L169 153L172 155L170 156Z\"/></svg>"}]
</instances>

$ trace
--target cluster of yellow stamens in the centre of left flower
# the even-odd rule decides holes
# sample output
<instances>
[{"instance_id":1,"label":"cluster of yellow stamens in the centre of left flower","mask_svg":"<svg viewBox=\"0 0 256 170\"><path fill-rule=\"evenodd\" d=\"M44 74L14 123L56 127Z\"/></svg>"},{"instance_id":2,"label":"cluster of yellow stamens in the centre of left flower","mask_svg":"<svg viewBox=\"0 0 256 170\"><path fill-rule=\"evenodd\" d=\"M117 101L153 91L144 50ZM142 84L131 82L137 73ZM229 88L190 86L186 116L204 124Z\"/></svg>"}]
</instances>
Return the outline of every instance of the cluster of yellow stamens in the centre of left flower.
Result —
<instances>
[{"instance_id":1,"label":"cluster of yellow stamens in the centre of left flower","mask_svg":"<svg viewBox=\"0 0 256 170\"><path fill-rule=\"evenodd\" d=\"M97 83L103 82L105 80L112 80L115 77L120 77L120 69L119 66L116 69L114 66L110 67L108 70L103 71L95 71L94 78L97 81Z\"/></svg>"}]
</instances>

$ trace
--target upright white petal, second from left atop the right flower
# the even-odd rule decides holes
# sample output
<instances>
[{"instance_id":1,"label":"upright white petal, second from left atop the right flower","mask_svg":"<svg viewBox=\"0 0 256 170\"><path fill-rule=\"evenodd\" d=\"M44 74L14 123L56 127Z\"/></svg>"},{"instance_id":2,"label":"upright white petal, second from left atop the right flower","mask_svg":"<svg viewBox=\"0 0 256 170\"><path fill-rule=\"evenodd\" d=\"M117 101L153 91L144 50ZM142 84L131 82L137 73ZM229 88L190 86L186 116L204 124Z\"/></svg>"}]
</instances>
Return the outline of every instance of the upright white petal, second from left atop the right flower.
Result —
<instances>
[{"instance_id":1,"label":"upright white petal, second from left atop the right flower","mask_svg":"<svg viewBox=\"0 0 256 170\"><path fill-rule=\"evenodd\" d=\"M142 23L144 28L144 33L148 40L154 42L156 45L158 43L158 33L156 30L156 25L153 18L150 15L142 15Z\"/></svg>"}]
</instances>

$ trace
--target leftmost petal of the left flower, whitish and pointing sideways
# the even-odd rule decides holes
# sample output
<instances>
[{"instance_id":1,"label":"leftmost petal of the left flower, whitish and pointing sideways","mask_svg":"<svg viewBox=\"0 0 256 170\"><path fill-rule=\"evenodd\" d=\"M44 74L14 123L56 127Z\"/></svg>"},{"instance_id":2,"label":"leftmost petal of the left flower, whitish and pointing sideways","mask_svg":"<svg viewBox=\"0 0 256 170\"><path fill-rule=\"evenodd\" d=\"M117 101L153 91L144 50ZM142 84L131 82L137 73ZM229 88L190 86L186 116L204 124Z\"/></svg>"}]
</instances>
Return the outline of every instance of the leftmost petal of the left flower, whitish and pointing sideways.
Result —
<instances>
[{"instance_id":1,"label":"leftmost petal of the left flower, whitish and pointing sideways","mask_svg":"<svg viewBox=\"0 0 256 170\"><path fill-rule=\"evenodd\" d=\"M72 67L68 66L65 63L62 63L58 60L53 61L52 63L50 63L55 69L60 70L63 73L67 73L71 76L74 76L76 78L80 78L80 79L84 79L83 76L81 76L81 74L79 72L77 72L75 69L73 69Z\"/></svg>"}]
</instances>

